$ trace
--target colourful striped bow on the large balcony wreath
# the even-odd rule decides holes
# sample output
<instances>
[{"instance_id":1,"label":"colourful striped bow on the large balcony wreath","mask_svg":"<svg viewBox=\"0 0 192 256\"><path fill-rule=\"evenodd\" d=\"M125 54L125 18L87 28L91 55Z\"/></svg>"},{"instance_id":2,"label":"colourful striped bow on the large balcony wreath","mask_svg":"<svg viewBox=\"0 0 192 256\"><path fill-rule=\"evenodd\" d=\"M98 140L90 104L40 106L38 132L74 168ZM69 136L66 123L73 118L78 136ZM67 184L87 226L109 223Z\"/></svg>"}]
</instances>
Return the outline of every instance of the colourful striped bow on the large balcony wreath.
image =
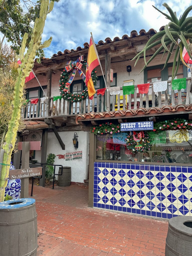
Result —
<instances>
[{"instance_id":1,"label":"colourful striped bow on the large balcony wreath","mask_svg":"<svg viewBox=\"0 0 192 256\"><path fill-rule=\"evenodd\" d=\"M69 60L67 62L65 70L67 73L72 71L72 74L71 74L71 77L69 78L69 81L65 84L65 89L63 91L66 91L66 92L69 91L69 87L73 81L73 78L74 78L77 70L78 70L80 77L85 82L86 77L85 77L85 74L83 73L83 71L81 70L83 67L83 61L84 61L84 57L83 57L83 55L81 55L76 61Z\"/></svg>"}]
</instances>

